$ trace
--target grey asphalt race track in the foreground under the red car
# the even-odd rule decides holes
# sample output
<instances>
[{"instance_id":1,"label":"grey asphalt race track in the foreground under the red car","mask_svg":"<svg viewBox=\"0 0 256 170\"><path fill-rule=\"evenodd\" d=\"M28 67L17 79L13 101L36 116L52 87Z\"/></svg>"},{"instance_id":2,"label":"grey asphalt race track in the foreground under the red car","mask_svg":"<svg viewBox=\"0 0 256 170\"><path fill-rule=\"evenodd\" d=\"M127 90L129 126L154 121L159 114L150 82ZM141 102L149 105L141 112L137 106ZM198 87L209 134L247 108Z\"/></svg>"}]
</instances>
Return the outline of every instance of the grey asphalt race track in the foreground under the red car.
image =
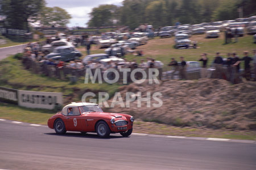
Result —
<instances>
[{"instance_id":1,"label":"grey asphalt race track in the foreground under the red car","mask_svg":"<svg viewBox=\"0 0 256 170\"><path fill-rule=\"evenodd\" d=\"M256 169L255 142L145 134L102 139L1 120L0 146L0 169Z\"/></svg>"}]
</instances>

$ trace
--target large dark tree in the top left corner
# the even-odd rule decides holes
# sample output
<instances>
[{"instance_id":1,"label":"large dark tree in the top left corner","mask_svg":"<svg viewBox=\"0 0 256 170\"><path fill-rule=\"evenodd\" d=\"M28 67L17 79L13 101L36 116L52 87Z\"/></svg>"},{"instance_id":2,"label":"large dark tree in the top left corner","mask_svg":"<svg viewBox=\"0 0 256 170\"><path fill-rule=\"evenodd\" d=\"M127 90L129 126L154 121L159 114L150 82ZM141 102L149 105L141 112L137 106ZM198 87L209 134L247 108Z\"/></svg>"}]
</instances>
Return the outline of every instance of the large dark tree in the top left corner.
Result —
<instances>
[{"instance_id":1,"label":"large dark tree in the top left corner","mask_svg":"<svg viewBox=\"0 0 256 170\"><path fill-rule=\"evenodd\" d=\"M38 16L44 0L2 0L2 15L6 16L8 28L28 29L28 19Z\"/></svg>"}]
</instances>

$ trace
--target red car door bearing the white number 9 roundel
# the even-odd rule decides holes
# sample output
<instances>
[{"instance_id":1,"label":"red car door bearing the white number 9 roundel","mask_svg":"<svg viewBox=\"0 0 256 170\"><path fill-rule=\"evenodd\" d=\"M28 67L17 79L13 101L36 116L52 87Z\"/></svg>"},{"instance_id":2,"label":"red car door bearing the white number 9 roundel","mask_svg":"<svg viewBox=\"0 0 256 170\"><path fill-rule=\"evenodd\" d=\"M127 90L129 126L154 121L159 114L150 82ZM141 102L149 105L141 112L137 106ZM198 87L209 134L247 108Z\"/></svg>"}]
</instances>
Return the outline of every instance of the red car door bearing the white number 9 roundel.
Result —
<instances>
[{"instance_id":1,"label":"red car door bearing the white number 9 roundel","mask_svg":"<svg viewBox=\"0 0 256 170\"><path fill-rule=\"evenodd\" d=\"M84 131L85 120L78 107L72 107L73 113L65 116L65 126L68 131Z\"/></svg>"}]
</instances>

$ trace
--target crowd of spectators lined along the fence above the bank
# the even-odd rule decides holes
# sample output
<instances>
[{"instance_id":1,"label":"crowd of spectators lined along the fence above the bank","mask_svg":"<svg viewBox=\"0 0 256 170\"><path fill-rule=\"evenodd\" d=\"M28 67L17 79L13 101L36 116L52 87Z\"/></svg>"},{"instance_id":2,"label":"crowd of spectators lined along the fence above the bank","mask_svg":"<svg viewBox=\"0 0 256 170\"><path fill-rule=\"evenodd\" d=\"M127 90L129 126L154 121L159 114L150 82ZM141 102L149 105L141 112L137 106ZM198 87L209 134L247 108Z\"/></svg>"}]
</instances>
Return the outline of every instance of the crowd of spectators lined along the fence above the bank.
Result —
<instances>
[{"instance_id":1,"label":"crowd of spectators lined along the fence above the bank","mask_svg":"<svg viewBox=\"0 0 256 170\"><path fill-rule=\"evenodd\" d=\"M214 73L216 74L215 78L226 79L232 83L240 83L242 76L246 80L256 80L256 50L253 50L253 58L249 57L249 52L243 52L243 57L240 58L236 53L228 53L226 58L222 57L220 53L216 53L216 56L213 59L211 67L214 67ZM140 55L138 55L140 56ZM145 61L146 60L146 61ZM208 57L207 53L200 55L199 61L202 62L201 66L201 78L210 78L210 71L207 68L208 66ZM253 63L251 63L253 61ZM241 71L241 62L244 62L244 68ZM61 78L62 75L66 77L67 75L75 76L84 76L85 70L87 68L97 69L100 68L104 73L105 70L121 69L121 68L156 68L159 69L160 76L162 77L162 68L163 63L161 61L155 61L153 58L147 57L146 59L141 59L141 63L137 63L136 59L128 61L126 58L123 58L122 62L110 61L102 63L97 60L89 61L88 63L82 63L81 59L76 59L75 61L63 62L60 60L47 59L39 51L39 43L28 43L24 49L23 63L26 66L26 69L33 67L33 65L38 65L36 68L37 72L46 74L46 75L55 75L56 77ZM254 65L254 77L251 76L251 68ZM47 69L47 66L51 66L51 69ZM179 72L180 79L187 79L187 62L184 57L180 57L180 62L177 62L175 58L171 58L171 62L168 66L172 67L171 79L174 79L175 73ZM48 70L48 71L46 71ZM58 70L58 71L57 71ZM48 72L54 72L49 74Z\"/></svg>"}]
</instances>

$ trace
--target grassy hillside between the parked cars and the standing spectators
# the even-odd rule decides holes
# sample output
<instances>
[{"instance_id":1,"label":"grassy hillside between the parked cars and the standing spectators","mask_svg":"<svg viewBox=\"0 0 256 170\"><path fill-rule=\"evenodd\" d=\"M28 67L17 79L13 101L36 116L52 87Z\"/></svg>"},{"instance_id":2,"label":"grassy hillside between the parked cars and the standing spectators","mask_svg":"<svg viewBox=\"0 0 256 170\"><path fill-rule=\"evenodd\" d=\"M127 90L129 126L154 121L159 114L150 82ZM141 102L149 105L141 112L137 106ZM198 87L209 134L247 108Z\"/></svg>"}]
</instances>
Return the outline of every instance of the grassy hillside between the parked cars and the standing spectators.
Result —
<instances>
[{"instance_id":1,"label":"grassy hillside between the parked cars and the standing spectators","mask_svg":"<svg viewBox=\"0 0 256 170\"><path fill-rule=\"evenodd\" d=\"M217 39L205 39L205 35L193 35L190 38L191 41L197 41L197 49L175 49L174 37L160 39L155 37L155 39L149 40L146 45L138 46L135 50L143 50L144 56L137 57L133 54L128 54L125 57L128 60L137 59L137 62L140 62L142 58L151 57L156 60L162 61L165 66L164 69L168 69L167 63L171 61L171 58L174 57L179 61L180 56L184 56L186 61L197 61L200 58L201 53L207 53L209 62L208 65L212 62L216 52L220 52L222 57L226 57L227 53L237 53L238 56L242 57L243 51L256 49L256 45L253 43L253 36L245 35L238 38L237 43L230 43L224 45L224 35L221 33L221 36ZM84 48L79 48L84 56L86 56L86 51ZM92 48L92 53L104 53L105 49L98 49L96 45Z\"/></svg>"}]
</instances>

